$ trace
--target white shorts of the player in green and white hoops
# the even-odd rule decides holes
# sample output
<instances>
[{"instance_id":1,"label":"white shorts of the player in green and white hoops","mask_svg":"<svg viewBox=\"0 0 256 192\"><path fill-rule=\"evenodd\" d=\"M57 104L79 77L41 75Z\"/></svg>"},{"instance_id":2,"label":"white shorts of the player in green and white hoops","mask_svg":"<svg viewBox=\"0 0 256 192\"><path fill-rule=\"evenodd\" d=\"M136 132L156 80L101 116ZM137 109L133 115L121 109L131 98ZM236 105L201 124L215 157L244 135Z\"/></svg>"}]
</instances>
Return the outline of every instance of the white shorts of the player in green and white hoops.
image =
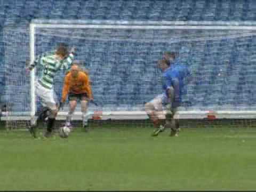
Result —
<instances>
[{"instance_id":1,"label":"white shorts of the player in green and white hoops","mask_svg":"<svg viewBox=\"0 0 256 192\"><path fill-rule=\"evenodd\" d=\"M42 106L49 107L51 110L57 110L57 95L53 89L47 89L36 82L36 95L39 97Z\"/></svg>"}]
</instances>

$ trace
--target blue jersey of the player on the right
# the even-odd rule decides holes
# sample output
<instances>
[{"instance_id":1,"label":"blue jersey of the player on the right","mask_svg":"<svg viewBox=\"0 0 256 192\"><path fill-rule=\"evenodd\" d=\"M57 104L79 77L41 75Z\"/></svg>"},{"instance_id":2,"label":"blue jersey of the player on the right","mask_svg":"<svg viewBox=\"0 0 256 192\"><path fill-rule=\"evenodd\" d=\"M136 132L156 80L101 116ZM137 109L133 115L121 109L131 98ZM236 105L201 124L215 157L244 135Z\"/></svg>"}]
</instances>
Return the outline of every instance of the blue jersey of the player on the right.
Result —
<instances>
[{"instance_id":1,"label":"blue jersey of the player on the right","mask_svg":"<svg viewBox=\"0 0 256 192\"><path fill-rule=\"evenodd\" d=\"M163 72L163 90L167 97L169 87L174 89L174 101L181 102L182 89L184 87L185 77L190 76L190 72L186 65L174 62L169 68Z\"/></svg>"}]
</instances>

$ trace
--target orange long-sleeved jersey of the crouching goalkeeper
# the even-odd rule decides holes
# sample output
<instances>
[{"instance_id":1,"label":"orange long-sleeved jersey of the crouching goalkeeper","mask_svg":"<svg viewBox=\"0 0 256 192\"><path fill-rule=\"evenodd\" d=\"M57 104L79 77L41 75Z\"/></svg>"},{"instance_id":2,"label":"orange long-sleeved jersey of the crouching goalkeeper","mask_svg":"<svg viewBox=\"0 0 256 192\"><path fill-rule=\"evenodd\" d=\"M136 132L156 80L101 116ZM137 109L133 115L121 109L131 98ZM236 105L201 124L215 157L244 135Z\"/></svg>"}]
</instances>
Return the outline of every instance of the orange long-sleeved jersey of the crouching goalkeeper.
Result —
<instances>
[{"instance_id":1,"label":"orange long-sleeved jersey of the crouching goalkeeper","mask_svg":"<svg viewBox=\"0 0 256 192\"><path fill-rule=\"evenodd\" d=\"M79 71L78 76L76 78L72 77L71 73L68 73L65 76L61 102L66 101L68 93L86 93L89 99L92 99L90 79L88 74L85 73L85 71Z\"/></svg>"}]
</instances>

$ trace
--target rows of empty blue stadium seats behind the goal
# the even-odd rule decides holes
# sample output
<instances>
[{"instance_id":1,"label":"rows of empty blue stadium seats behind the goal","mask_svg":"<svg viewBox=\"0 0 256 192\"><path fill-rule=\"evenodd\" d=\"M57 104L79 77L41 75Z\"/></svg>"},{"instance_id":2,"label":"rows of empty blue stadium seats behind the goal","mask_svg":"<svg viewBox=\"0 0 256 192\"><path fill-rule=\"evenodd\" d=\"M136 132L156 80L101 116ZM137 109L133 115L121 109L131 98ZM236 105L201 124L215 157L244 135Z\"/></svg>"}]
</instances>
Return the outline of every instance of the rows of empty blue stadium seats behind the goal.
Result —
<instances>
[{"instance_id":1,"label":"rows of empty blue stadium seats behind the goal","mask_svg":"<svg viewBox=\"0 0 256 192\"><path fill-rule=\"evenodd\" d=\"M28 99L26 92L23 91L27 85L13 84L5 87L5 68L9 61L5 58L7 54L5 54L3 31L8 27L27 28L31 19L255 21L255 7L254 0L5 1L4 6L0 6L0 90L4 90L1 94L5 92L12 95L13 89L20 91L22 94L15 100L17 105L14 105L17 109L21 109L20 103ZM38 52L47 51L47 47L54 46L58 40L52 37L45 42L37 42ZM139 105L161 92L161 82L155 79L159 71L152 63L156 63L157 59L162 57L166 44L157 44L157 46L140 44L136 49L141 59L134 59L134 50L131 50L131 47L135 46L125 46L122 42L116 42L116 44L102 42L95 45L91 42L88 46L82 46L85 43L83 39L74 39L73 43L78 47L79 44L81 45L82 48L78 51L84 53L84 57L83 54L78 54L78 59L85 60L85 67L90 69L92 81L102 86L93 85L94 97L101 102L104 100L107 104L116 106L127 103ZM124 48L120 49L121 47ZM206 44L194 46L193 50L188 52L182 52L182 46L175 45L175 49L180 51L181 62L187 63L189 69L197 76L195 84L186 86L183 105L185 107L255 105L256 99L252 96L256 91L255 48L255 38L248 38L247 42L229 39L212 44L209 41ZM110 52L110 55L101 54L98 58L93 57L93 52L104 53L106 50L111 50L113 54ZM15 50L12 54L15 54ZM151 61L150 65L146 60ZM94 66L98 63L101 67L95 68L92 63ZM23 68L24 63L20 65L20 63L14 63L15 73ZM17 78L21 79L21 82L25 81L22 80L24 75L21 73ZM61 83L62 79L63 74L57 82ZM243 94L240 94L241 89ZM108 97L109 94L111 97Z\"/></svg>"}]
</instances>

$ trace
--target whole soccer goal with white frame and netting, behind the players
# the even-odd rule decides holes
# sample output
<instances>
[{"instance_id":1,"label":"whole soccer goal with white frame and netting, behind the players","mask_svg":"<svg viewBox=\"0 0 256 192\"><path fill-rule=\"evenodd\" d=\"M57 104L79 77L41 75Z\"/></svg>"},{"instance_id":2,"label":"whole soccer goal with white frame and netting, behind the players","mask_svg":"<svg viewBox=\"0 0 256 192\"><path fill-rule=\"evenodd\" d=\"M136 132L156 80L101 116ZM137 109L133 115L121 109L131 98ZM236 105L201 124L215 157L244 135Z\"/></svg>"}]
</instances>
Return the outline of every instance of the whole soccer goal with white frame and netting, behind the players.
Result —
<instances>
[{"instance_id":1,"label":"whole soccer goal with white frame and netting, behind the players","mask_svg":"<svg viewBox=\"0 0 256 192\"><path fill-rule=\"evenodd\" d=\"M5 29L7 111L3 119L30 119L38 101L36 78L25 74L26 60L58 43L77 47L77 60L89 69L94 100L88 113L102 119L147 119L145 102L162 93L157 60L165 51L179 53L194 81L183 90L175 118L256 117L256 24L205 21L33 20L27 29ZM61 95L60 72L54 89ZM58 119L67 115L68 107ZM79 106L73 119L80 119Z\"/></svg>"}]
</instances>

